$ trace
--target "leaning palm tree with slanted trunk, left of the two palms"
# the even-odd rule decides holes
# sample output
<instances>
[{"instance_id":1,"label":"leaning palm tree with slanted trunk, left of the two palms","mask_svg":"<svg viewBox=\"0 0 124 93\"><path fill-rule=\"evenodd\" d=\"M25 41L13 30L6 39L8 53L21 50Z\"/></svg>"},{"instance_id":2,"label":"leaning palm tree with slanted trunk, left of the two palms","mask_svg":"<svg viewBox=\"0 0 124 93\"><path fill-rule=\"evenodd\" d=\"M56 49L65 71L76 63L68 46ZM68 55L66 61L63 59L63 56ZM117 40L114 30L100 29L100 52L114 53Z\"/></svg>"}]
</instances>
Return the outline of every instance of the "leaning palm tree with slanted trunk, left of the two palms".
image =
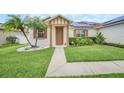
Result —
<instances>
[{"instance_id":1,"label":"leaning palm tree with slanted trunk, left of the two palms","mask_svg":"<svg viewBox=\"0 0 124 93\"><path fill-rule=\"evenodd\" d=\"M33 45L31 44L25 33L25 25L24 25L25 20L22 20L19 15L8 15L8 16L10 18L3 24L5 31L21 31L24 34L27 42L30 44L31 47L33 47Z\"/></svg>"}]
</instances>

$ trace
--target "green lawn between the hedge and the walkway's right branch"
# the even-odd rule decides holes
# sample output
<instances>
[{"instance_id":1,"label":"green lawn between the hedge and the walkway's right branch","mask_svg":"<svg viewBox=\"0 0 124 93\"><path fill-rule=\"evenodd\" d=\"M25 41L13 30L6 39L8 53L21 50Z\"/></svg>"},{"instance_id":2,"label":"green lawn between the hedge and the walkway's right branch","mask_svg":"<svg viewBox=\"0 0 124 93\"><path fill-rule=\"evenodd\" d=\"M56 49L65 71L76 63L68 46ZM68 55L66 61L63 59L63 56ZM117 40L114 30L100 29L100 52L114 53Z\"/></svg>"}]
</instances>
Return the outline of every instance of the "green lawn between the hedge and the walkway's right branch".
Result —
<instances>
[{"instance_id":1,"label":"green lawn between the hedge and the walkway's right branch","mask_svg":"<svg viewBox=\"0 0 124 93\"><path fill-rule=\"evenodd\" d=\"M93 45L65 48L68 62L124 60L124 48Z\"/></svg>"}]
</instances>

